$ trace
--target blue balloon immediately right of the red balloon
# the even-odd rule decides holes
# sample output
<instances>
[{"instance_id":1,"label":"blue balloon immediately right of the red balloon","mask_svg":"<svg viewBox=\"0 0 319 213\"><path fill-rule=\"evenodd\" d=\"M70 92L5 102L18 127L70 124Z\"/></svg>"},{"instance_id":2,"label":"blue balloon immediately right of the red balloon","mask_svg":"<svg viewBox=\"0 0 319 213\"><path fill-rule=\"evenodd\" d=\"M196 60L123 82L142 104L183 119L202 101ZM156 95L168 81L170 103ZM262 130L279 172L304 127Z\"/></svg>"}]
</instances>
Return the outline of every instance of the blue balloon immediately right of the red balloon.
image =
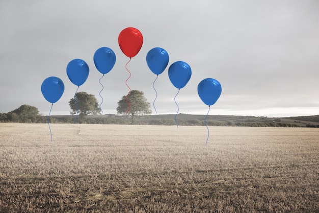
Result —
<instances>
[{"instance_id":1,"label":"blue balloon immediately right of the red balloon","mask_svg":"<svg viewBox=\"0 0 319 213\"><path fill-rule=\"evenodd\" d=\"M164 72L169 61L169 56L166 50L162 48L153 48L146 55L146 63L150 70L159 75Z\"/></svg>"}]
</instances>

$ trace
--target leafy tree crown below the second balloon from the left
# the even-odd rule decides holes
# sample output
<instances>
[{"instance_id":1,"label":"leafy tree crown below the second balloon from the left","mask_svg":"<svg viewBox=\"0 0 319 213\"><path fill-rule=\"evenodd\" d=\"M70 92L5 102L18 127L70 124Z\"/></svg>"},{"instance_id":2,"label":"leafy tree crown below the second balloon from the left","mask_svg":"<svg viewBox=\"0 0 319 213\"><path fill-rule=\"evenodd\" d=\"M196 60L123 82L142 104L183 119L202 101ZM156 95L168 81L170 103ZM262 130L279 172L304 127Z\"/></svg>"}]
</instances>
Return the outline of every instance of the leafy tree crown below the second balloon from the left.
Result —
<instances>
[{"instance_id":1,"label":"leafy tree crown below the second balloon from the left","mask_svg":"<svg viewBox=\"0 0 319 213\"><path fill-rule=\"evenodd\" d=\"M98 102L94 94L88 94L87 92L76 92L75 100L76 103L74 102L74 98L70 99L69 101L69 105L72 110L70 111L71 114L75 114L77 112L77 107L80 115L97 114L101 111L101 109L98 107Z\"/></svg>"}]
</instances>

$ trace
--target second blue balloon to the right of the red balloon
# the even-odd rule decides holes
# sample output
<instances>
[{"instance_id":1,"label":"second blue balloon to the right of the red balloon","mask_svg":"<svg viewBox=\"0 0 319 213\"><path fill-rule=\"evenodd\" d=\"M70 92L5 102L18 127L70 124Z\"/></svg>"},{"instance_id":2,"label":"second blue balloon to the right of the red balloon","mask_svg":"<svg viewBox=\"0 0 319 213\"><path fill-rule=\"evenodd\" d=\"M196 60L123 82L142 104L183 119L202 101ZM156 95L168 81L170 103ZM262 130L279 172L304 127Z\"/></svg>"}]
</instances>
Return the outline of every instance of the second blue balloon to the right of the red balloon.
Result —
<instances>
[{"instance_id":1,"label":"second blue balloon to the right of the red balloon","mask_svg":"<svg viewBox=\"0 0 319 213\"><path fill-rule=\"evenodd\" d=\"M168 77L172 84L180 89L191 79L192 69L183 61L176 61L168 68Z\"/></svg>"}]
</instances>

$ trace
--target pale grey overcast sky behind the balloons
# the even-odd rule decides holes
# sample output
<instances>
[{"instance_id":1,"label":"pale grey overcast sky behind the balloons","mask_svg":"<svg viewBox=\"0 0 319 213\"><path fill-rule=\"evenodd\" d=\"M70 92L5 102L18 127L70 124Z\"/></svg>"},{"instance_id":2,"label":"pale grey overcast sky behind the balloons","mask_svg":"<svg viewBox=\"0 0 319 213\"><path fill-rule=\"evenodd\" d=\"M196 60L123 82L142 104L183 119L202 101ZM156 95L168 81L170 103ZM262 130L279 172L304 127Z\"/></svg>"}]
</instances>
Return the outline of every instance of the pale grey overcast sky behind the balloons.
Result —
<instances>
[{"instance_id":1,"label":"pale grey overcast sky behind the balloons","mask_svg":"<svg viewBox=\"0 0 319 213\"><path fill-rule=\"evenodd\" d=\"M23 104L48 115L51 103L41 92L47 77L65 85L51 115L70 114L69 101L77 86L66 66L82 59L90 68L78 88L94 94L98 103L102 86L93 62L103 46L116 55L113 69L101 79L103 114L117 114L117 102L129 91L125 64L129 58L118 44L127 27L143 35L140 52L127 68L131 89L144 92L152 114L206 114L197 86L214 78L222 86L209 114L299 116L319 114L319 1L317 0L30 0L0 1L0 112ZM169 64L158 76L146 55L165 49ZM178 89L168 78L175 61L190 65L192 77ZM154 102L155 100L155 102ZM154 108L155 107L155 108Z\"/></svg>"}]
</instances>

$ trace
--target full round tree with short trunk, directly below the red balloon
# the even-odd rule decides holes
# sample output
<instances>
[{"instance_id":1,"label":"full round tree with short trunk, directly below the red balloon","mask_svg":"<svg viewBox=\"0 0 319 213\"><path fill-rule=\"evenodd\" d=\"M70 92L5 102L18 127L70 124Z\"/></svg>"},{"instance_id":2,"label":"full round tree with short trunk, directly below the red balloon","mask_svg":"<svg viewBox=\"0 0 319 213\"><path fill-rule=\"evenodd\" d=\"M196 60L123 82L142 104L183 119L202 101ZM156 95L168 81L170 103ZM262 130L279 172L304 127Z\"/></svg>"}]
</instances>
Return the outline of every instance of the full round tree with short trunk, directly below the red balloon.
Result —
<instances>
[{"instance_id":1,"label":"full round tree with short trunk, directly below the red balloon","mask_svg":"<svg viewBox=\"0 0 319 213\"><path fill-rule=\"evenodd\" d=\"M130 109L127 101L130 104ZM144 92L139 90L132 90L128 96L123 96L120 101L117 102L118 107L116 108L118 114L128 114L132 118L132 123L135 121L135 115L151 114L151 104L147 102L144 97ZM127 110L129 109L128 113Z\"/></svg>"}]
</instances>

